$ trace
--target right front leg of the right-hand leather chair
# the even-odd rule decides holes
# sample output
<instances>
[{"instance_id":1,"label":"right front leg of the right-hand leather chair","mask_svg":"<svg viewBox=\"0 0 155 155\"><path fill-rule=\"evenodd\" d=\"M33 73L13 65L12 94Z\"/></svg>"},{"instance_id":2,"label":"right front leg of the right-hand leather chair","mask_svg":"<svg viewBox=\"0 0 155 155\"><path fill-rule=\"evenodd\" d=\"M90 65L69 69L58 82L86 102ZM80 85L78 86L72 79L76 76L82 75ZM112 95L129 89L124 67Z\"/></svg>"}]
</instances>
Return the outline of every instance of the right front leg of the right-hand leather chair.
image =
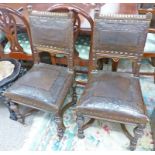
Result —
<instances>
[{"instance_id":1,"label":"right front leg of the right-hand leather chair","mask_svg":"<svg viewBox=\"0 0 155 155\"><path fill-rule=\"evenodd\" d=\"M130 140L130 150L134 151L137 146L138 139L142 137L145 125L139 124L134 128L134 137Z\"/></svg>"}]
</instances>

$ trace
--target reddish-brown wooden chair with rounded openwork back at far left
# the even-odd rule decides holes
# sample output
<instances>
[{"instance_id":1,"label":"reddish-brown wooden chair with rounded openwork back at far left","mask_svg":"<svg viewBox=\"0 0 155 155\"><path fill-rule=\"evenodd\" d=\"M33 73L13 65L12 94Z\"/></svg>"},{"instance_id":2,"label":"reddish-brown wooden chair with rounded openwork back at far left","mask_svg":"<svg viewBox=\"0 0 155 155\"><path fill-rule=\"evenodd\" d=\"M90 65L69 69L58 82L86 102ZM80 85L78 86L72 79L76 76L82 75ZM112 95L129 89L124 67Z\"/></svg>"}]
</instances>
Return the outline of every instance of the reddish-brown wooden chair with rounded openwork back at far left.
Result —
<instances>
[{"instance_id":1,"label":"reddish-brown wooden chair with rounded openwork back at far left","mask_svg":"<svg viewBox=\"0 0 155 155\"><path fill-rule=\"evenodd\" d=\"M0 48L1 57L33 60L28 22L20 9L14 10L0 5L0 30L5 37Z\"/></svg>"}]
</instances>

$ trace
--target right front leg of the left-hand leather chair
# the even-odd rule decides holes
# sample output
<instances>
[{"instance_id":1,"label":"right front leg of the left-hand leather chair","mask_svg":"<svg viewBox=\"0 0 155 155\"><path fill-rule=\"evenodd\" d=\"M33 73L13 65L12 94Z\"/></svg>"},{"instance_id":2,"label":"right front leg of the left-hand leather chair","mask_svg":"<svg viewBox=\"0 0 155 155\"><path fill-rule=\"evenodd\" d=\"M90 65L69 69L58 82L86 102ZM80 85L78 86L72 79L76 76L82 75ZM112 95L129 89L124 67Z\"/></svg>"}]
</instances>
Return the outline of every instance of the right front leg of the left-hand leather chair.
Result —
<instances>
[{"instance_id":1,"label":"right front leg of the left-hand leather chair","mask_svg":"<svg viewBox=\"0 0 155 155\"><path fill-rule=\"evenodd\" d=\"M63 138L65 126L63 124L63 118L56 115L55 116L55 123L57 124L57 135L59 137L59 140Z\"/></svg>"}]
</instances>

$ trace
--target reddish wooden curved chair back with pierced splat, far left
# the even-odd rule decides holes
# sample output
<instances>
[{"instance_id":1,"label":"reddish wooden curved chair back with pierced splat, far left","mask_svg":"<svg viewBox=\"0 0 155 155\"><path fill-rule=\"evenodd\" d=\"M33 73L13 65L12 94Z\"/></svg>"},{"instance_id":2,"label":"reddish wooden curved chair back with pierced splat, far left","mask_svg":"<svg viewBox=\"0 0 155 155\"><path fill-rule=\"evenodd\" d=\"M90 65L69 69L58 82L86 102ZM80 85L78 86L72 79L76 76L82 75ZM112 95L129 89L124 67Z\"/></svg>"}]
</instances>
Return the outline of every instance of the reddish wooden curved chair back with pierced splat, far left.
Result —
<instances>
[{"instance_id":1,"label":"reddish wooden curved chair back with pierced splat, far left","mask_svg":"<svg viewBox=\"0 0 155 155\"><path fill-rule=\"evenodd\" d=\"M19 43L19 29L23 29L24 32L28 35L28 40L30 42L30 50L32 51L31 55L26 54L26 51L24 51L23 47ZM0 5L0 30L5 34L6 40L10 43L10 53L6 57L13 57L24 60L33 59L33 48L29 23L18 10L14 10L7 6ZM3 53L2 57L5 57L5 52L1 52Z\"/></svg>"}]
</instances>

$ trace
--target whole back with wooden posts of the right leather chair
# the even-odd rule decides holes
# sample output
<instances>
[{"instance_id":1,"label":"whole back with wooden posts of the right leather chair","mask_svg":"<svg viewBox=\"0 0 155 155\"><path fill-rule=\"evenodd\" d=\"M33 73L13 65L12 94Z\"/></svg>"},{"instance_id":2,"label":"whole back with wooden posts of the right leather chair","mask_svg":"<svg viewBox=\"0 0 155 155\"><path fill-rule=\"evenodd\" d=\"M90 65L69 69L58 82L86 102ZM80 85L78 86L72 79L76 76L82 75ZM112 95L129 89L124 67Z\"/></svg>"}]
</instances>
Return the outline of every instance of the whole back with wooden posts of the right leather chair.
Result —
<instances>
[{"instance_id":1,"label":"whole back with wooden posts of the right leather chair","mask_svg":"<svg viewBox=\"0 0 155 155\"><path fill-rule=\"evenodd\" d=\"M95 13L93 30L92 67L95 71L97 60L103 57L131 59L133 73L139 76L140 61L150 25L151 14L147 15L99 15Z\"/></svg>"}]
</instances>

